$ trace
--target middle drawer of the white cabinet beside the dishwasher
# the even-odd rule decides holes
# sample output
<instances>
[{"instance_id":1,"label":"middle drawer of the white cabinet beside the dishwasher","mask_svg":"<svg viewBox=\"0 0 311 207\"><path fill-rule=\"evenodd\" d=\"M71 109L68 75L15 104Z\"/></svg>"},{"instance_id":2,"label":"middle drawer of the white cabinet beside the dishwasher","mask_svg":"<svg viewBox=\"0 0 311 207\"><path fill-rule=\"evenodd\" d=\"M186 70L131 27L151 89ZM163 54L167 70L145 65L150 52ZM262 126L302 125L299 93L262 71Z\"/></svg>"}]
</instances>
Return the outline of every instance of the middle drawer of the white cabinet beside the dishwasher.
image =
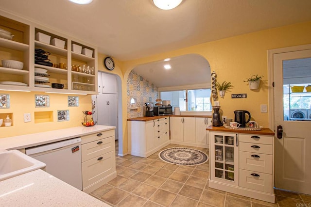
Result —
<instances>
[{"instance_id":1,"label":"middle drawer of the white cabinet beside the dishwasher","mask_svg":"<svg viewBox=\"0 0 311 207\"><path fill-rule=\"evenodd\" d=\"M81 145L82 162L103 155L115 149L114 137L108 137Z\"/></svg>"}]
</instances>

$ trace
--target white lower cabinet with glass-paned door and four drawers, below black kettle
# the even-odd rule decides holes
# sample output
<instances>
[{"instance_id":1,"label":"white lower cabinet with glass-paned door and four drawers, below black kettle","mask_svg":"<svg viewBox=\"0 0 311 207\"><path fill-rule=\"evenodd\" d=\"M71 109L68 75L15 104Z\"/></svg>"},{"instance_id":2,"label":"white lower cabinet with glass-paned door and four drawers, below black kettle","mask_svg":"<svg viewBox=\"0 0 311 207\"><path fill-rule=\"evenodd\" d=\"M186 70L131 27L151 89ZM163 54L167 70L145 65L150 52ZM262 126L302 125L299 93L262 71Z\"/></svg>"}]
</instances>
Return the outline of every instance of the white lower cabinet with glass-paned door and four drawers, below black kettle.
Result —
<instances>
[{"instance_id":1,"label":"white lower cabinet with glass-paned door and four drawers, below black kettle","mask_svg":"<svg viewBox=\"0 0 311 207\"><path fill-rule=\"evenodd\" d=\"M273 135L210 130L208 186L275 203L273 147Z\"/></svg>"}]
</instances>

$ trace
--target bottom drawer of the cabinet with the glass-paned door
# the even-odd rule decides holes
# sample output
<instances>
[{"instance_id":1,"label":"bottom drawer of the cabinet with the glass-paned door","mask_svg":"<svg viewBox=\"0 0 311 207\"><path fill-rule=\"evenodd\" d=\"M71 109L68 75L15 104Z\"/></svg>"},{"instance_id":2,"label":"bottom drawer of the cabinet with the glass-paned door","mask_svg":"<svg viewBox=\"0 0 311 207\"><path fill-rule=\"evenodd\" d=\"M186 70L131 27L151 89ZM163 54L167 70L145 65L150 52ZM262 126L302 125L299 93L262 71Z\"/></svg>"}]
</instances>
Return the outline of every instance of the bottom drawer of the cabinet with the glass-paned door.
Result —
<instances>
[{"instance_id":1,"label":"bottom drawer of the cabinet with the glass-paned door","mask_svg":"<svg viewBox=\"0 0 311 207\"><path fill-rule=\"evenodd\" d=\"M243 188L253 189L272 193L272 175L259 173L255 171L241 170L239 171L239 186ZM255 176L255 175L257 176Z\"/></svg>"}]
</instances>

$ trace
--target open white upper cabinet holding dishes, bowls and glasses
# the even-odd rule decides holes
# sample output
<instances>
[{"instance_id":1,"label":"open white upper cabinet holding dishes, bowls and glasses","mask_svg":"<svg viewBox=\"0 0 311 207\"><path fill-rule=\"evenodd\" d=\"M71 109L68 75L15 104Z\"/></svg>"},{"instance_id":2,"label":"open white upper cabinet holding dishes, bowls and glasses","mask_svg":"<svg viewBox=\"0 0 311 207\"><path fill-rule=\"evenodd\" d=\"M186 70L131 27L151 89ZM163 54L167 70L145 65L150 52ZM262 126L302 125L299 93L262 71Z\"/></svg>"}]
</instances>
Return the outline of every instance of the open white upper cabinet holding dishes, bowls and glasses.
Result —
<instances>
[{"instance_id":1,"label":"open white upper cabinet holding dishes, bowls and glasses","mask_svg":"<svg viewBox=\"0 0 311 207\"><path fill-rule=\"evenodd\" d=\"M23 62L22 69L1 65L1 90L97 94L96 46L11 14L1 15L1 31L14 37L0 35L0 60ZM52 83L64 88L52 88Z\"/></svg>"}]
</instances>

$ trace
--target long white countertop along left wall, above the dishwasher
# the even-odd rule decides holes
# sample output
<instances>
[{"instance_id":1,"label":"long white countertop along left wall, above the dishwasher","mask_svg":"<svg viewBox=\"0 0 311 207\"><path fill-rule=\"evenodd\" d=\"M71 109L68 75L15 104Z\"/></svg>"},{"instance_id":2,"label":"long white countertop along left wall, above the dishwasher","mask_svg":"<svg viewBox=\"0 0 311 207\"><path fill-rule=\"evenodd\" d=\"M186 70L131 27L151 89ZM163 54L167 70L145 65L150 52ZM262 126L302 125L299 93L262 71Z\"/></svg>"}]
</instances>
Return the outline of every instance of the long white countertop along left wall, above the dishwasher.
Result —
<instances>
[{"instance_id":1,"label":"long white countertop along left wall, above the dishwasher","mask_svg":"<svg viewBox=\"0 0 311 207\"><path fill-rule=\"evenodd\" d=\"M57 129L52 131L38 132L33 134L25 134L15 137L0 138L1 149L22 149L41 144L58 142L79 136L86 136L92 133L108 131L116 127L95 125L92 127L70 127L65 129Z\"/></svg>"}]
</instances>

